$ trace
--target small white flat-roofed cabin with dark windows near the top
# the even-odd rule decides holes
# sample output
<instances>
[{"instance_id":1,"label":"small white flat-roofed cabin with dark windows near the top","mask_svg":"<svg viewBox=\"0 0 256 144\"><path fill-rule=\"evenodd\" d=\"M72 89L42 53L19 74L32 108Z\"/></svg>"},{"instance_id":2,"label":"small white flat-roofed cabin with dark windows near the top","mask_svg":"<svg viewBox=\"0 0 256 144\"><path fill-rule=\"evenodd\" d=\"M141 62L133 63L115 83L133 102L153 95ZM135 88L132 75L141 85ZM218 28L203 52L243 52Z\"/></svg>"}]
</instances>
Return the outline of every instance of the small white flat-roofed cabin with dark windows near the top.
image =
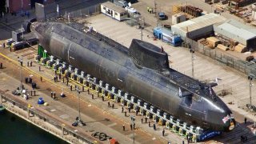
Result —
<instances>
[{"instance_id":1,"label":"small white flat-roofed cabin with dark windows near the top","mask_svg":"<svg viewBox=\"0 0 256 144\"><path fill-rule=\"evenodd\" d=\"M112 2L102 3L101 12L118 21L122 21L128 17L127 11L125 9L120 6L114 5L114 3Z\"/></svg>"}]
</instances>

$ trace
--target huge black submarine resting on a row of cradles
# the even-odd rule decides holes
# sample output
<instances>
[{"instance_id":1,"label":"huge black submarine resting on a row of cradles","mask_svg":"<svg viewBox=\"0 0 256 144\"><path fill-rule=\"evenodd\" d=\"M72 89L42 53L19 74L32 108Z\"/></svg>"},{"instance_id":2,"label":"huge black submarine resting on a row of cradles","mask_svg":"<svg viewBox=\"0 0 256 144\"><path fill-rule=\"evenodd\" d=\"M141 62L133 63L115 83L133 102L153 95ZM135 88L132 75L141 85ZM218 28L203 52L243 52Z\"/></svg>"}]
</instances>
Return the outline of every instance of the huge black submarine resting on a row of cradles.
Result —
<instances>
[{"instance_id":1,"label":"huge black submarine resting on a row of cradles","mask_svg":"<svg viewBox=\"0 0 256 144\"><path fill-rule=\"evenodd\" d=\"M230 131L235 120L212 87L173 70L158 46L133 39L129 49L94 30L62 22L27 26L47 53L204 130Z\"/></svg>"}]
</instances>

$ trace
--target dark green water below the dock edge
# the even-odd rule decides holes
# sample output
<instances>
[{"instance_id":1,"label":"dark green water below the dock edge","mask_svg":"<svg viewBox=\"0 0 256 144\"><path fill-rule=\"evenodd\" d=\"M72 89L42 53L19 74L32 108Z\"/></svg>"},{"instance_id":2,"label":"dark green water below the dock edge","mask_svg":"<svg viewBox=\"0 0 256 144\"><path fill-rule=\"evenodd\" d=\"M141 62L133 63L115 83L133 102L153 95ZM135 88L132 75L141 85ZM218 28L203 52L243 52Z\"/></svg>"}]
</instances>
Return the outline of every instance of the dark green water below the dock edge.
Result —
<instances>
[{"instance_id":1,"label":"dark green water below the dock edge","mask_svg":"<svg viewBox=\"0 0 256 144\"><path fill-rule=\"evenodd\" d=\"M5 110L0 114L0 143L66 144L67 142Z\"/></svg>"}]
</instances>

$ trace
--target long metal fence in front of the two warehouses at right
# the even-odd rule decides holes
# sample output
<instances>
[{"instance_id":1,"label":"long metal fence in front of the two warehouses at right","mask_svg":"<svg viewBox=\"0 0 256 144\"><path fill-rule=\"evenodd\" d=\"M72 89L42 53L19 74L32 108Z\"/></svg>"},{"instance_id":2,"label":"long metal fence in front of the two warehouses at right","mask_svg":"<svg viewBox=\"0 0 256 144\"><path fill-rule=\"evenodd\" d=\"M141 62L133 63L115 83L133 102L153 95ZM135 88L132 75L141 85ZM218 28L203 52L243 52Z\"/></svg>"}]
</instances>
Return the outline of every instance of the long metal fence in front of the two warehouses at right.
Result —
<instances>
[{"instance_id":1,"label":"long metal fence in front of the two warehouses at right","mask_svg":"<svg viewBox=\"0 0 256 144\"><path fill-rule=\"evenodd\" d=\"M190 38L186 38L186 41L182 44L182 46L192 48L198 51L200 54L204 54L217 60L218 62L222 62L226 66L230 66L235 70L241 71L242 73L256 75L256 64L254 62L246 62L239 58L235 58L232 55L224 54L220 50L210 49L208 46L204 46Z\"/></svg>"}]
</instances>

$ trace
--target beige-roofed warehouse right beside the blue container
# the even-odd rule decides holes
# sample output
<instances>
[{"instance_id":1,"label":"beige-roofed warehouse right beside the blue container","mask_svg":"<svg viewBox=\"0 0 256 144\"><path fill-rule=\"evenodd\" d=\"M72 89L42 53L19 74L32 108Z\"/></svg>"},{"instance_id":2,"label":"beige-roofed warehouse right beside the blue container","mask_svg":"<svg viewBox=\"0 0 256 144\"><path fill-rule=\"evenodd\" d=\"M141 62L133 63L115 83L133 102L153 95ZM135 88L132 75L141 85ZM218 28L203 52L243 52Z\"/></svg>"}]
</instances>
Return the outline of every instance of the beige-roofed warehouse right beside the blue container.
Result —
<instances>
[{"instance_id":1,"label":"beige-roofed warehouse right beside the blue container","mask_svg":"<svg viewBox=\"0 0 256 144\"><path fill-rule=\"evenodd\" d=\"M214 34L213 25L218 22L224 22L226 18L218 14L206 14L198 18L191 19L171 26L175 34L181 35L182 39L198 39Z\"/></svg>"}]
</instances>

